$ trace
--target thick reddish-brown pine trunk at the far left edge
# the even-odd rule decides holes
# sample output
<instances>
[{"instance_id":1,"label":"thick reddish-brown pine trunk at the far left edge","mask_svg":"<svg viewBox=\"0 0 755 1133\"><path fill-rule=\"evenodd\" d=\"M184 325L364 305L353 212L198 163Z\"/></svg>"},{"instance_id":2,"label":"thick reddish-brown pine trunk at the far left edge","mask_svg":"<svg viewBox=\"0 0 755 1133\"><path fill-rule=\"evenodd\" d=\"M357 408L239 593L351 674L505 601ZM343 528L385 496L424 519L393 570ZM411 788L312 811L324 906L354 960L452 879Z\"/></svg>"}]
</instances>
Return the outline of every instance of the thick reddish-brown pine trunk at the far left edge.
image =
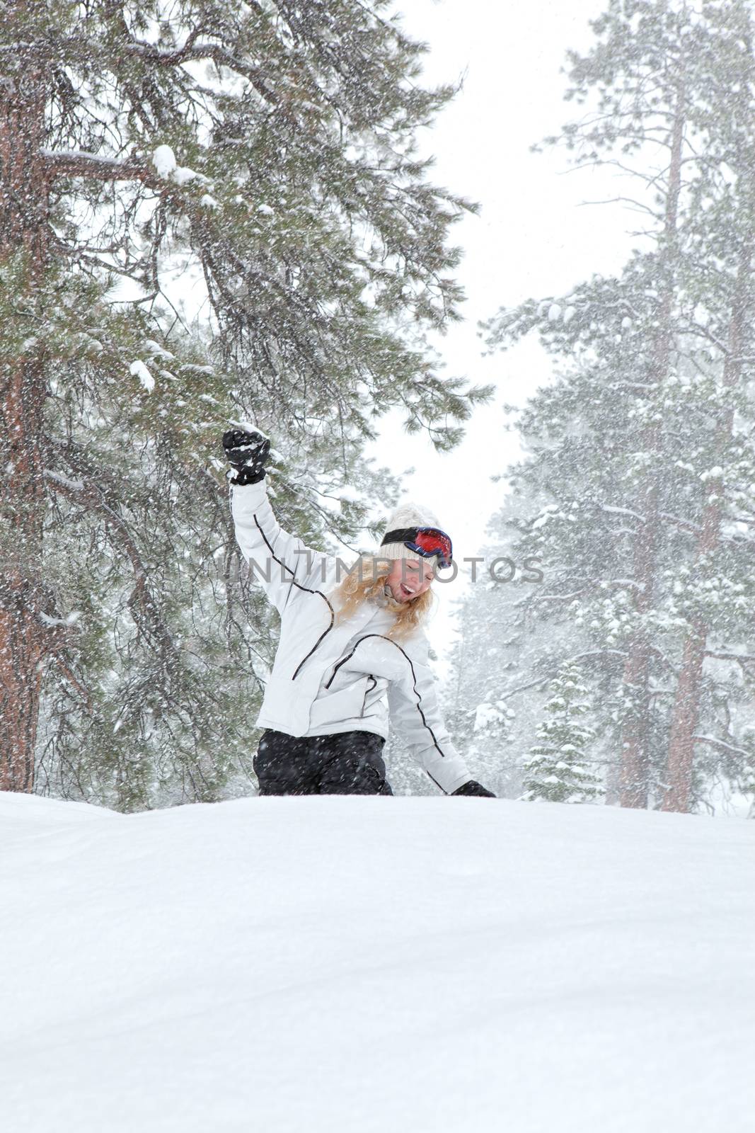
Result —
<instances>
[{"instance_id":1,"label":"thick reddish-brown pine trunk at the far left edge","mask_svg":"<svg viewBox=\"0 0 755 1133\"><path fill-rule=\"evenodd\" d=\"M23 6L20 6L23 7ZM41 460L44 370L40 347L23 334L23 310L46 265L49 189L40 147L44 140L45 67L19 59L0 85L0 269L17 281L0 352L0 789L31 791L42 666L49 630L41 614L44 520ZM36 330L36 327L34 327ZM23 335L23 339L22 339Z\"/></svg>"}]
</instances>

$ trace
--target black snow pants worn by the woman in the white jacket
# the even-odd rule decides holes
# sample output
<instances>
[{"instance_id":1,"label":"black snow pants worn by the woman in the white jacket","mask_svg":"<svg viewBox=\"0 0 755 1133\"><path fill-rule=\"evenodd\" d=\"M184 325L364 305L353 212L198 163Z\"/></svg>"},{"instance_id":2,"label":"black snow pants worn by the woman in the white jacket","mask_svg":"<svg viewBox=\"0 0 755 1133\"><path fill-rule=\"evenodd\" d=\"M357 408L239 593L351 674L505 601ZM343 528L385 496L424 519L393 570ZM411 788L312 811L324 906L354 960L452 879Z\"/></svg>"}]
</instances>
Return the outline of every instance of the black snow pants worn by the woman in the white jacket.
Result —
<instances>
[{"instance_id":1,"label":"black snow pants worn by the woman in the white jacket","mask_svg":"<svg viewBox=\"0 0 755 1133\"><path fill-rule=\"evenodd\" d=\"M255 756L260 794L393 794L374 732L263 733Z\"/></svg>"}]
</instances>

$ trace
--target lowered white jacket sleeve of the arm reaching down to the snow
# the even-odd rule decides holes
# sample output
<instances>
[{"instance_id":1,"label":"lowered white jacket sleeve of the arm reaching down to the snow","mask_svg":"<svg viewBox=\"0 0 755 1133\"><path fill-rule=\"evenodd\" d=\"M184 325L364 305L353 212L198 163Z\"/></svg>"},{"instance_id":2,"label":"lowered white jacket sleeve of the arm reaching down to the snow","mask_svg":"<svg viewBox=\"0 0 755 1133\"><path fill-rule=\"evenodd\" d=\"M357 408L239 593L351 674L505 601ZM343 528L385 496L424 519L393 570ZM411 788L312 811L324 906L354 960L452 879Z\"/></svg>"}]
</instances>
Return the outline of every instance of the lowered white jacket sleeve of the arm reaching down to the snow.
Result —
<instances>
[{"instance_id":1,"label":"lowered white jacket sleeve of the arm reaching down to the snow","mask_svg":"<svg viewBox=\"0 0 755 1133\"><path fill-rule=\"evenodd\" d=\"M472 775L444 724L427 649L423 636L411 648L402 648L406 665L402 676L388 685L391 723L420 767L441 791L451 794L469 783Z\"/></svg>"}]
</instances>

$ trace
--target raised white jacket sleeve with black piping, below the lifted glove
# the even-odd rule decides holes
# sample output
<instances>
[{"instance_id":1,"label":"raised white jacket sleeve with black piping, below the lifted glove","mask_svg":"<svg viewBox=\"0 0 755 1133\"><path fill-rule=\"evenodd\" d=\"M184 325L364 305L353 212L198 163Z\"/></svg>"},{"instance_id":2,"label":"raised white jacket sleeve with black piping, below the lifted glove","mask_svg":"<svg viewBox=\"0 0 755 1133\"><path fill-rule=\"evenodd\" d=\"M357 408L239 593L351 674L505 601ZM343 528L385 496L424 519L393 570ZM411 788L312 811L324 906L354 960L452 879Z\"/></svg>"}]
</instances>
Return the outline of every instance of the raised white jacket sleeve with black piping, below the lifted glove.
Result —
<instances>
[{"instance_id":1,"label":"raised white jacket sleeve with black piping, below the lifted glove","mask_svg":"<svg viewBox=\"0 0 755 1133\"><path fill-rule=\"evenodd\" d=\"M271 508L264 479L231 485L231 514L252 580L264 586L278 613L302 589L315 591L318 578L325 580L327 555L310 551L295 535L283 530Z\"/></svg>"}]
</instances>

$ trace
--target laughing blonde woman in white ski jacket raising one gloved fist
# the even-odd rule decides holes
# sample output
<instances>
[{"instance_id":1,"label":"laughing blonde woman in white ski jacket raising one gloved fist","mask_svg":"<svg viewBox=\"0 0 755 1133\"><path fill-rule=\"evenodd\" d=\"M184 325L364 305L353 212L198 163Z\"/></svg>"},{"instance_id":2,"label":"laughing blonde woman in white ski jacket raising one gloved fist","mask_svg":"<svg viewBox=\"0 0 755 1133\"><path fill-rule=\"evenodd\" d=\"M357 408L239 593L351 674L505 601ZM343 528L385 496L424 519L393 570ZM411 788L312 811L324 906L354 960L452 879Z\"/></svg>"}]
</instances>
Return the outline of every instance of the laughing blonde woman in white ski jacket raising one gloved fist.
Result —
<instances>
[{"instance_id":1,"label":"laughing blonde woman in white ski jacket raising one gloved fist","mask_svg":"<svg viewBox=\"0 0 755 1133\"><path fill-rule=\"evenodd\" d=\"M344 564L283 531L265 488L269 441L231 429L235 536L281 615L281 640L257 726L260 794L393 794L381 757L388 721L446 794L487 795L444 726L421 622L434 563L451 539L432 517L400 509L379 555ZM428 522L430 519L430 522Z\"/></svg>"}]
</instances>

